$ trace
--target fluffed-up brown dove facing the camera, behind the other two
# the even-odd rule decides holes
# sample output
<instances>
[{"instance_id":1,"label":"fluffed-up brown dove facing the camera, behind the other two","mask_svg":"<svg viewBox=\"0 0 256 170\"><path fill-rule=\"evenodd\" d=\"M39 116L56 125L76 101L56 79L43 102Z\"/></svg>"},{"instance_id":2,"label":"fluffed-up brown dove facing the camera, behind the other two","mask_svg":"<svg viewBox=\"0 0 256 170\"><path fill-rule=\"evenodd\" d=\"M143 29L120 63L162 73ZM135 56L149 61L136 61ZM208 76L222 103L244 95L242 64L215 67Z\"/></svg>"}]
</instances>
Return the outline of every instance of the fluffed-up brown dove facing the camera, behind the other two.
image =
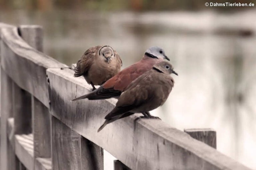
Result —
<instances>
[{"instance_id":1,"label":"fluffed-up brown dove facing the camera, behind the other two","mask_svg":"<svg viewBox=\"0 0 256 170\"><path fill-rule=\"evenodd\" d=\"M122 60L110 46L91 47L78 60L74 69L74 77L84 76L86 82L92 85L102 85L120 72Z\"/></svg>"}]
</instances>

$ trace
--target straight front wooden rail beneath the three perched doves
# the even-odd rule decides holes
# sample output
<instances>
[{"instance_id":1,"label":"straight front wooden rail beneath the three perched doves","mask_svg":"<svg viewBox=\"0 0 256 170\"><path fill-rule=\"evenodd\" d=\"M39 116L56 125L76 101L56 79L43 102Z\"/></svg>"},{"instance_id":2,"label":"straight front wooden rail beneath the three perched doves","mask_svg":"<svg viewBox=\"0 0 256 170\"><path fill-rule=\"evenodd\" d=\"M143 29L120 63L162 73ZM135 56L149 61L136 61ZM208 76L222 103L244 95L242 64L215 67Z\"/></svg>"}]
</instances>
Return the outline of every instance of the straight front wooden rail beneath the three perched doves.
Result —
<instances>
[{"instance_id":1,"label":"straight front wooden rail beneath the three perched doves","mask_svg":"<svg viewBox=\"0 0 256 170\"><path fill-rule=\"evenodd\" d=\"M69 69L48 69L51 113L131 169L249 169L158 119L132 115L97 129L116 100L70 102L90 86ZM137 120L136 120L137 119Z\"/></svg>"}]
</instances>

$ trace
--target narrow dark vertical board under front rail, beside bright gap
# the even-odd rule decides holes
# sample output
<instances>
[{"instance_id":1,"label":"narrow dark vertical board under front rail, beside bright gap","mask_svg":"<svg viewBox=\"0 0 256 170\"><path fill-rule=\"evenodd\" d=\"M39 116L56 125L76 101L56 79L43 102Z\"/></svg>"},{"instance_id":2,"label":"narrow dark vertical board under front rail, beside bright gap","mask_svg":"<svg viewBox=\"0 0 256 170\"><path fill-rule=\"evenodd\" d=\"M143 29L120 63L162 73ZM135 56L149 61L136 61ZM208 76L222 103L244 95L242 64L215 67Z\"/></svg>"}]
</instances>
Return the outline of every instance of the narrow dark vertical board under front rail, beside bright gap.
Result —
<instances>
[{"instance_id":1,"label":"narrow dark vertical board under front rail, beside bright gap","mask_svg":"<svg viewBox=\"0 0 256 170\"><path fill-rule=\"evenodd\" d=\"M81 170L103 170L103 149L81 137Z\"/></svg>"}]
</instances>

